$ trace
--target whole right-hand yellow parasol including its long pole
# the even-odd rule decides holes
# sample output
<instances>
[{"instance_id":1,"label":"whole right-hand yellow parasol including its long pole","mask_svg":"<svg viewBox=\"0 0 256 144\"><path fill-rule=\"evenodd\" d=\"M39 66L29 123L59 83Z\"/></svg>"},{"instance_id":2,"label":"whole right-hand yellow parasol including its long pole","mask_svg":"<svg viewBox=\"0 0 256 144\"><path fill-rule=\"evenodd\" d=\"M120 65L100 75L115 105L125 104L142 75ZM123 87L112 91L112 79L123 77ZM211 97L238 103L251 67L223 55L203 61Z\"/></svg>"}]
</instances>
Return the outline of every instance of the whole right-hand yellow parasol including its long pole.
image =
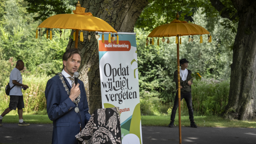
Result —
<instances>
[{"instance_id":1,"label":"whole right-hand yellow parasol including its long pole","mask_svg":"<svg viewBox=\"0 0 256 144\"><path fill-rule=\"evenodd\" d=\"M156 27L149 35L150 41L148 38L146 39L146 45L148 43L154 45L154 37L158 37L157 45L159 45L159 37L162 38L162 42L165 42L164 37L167 38L167 44L170 43L169 37L176 36L175 43L177 44L177 70L178 70L178 104L179 104L179 144L181 144L181 120L180 120L180 60L179 60L179 36L186 36L188 35L189 39L188 42L193 42L193 35L201 35L200 36L200 43L203 43L203 37L202 34L208 34L208 43L212 41L212 36L210 33L204 29L203 27L188 23L186 21L180 21L179 20L179 14L177 12L176 19L173 20L171 23L160 25ZM190 35L192 38L190 38ZM152 39L151 39L152 38ZM180 38L180 44L181 44L181 38Z\"/></svg>"}]
</instances>

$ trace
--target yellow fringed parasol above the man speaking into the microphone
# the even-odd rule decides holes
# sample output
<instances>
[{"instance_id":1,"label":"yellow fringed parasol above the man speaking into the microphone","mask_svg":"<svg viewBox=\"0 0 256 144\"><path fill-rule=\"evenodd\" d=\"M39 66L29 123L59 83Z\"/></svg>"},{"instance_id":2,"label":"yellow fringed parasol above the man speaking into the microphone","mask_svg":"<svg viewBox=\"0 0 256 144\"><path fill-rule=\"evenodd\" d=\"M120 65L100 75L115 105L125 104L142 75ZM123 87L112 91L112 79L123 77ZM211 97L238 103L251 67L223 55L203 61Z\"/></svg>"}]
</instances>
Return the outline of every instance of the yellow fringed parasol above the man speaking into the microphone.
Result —
<instances>
[{"instance_id":1,"label":"yellow fringed parasol above the man speaking into the microphone","mask_svg":"<svg viewBox=\"0 0 256 144\"><path fill-rule=\"evenodd\" d=\"M117 44L118 44L118 34L117 31L110 26L104 20L93 17L91 13L85 13L85 8L81 7L79 1L76 4L76 10L73 10L74 14L58 14L51 16L44 20L37 28L39 28L39 37L41 31L41 39L42 39L42 28L47 28L47 39L48 39L48 29L50 29L50 40L52 39L52 29L59 28L60 29L60 39L62 31L64 29L64 40L65 40L65 29L73 29L74 32L74 40L75 40L75 48L78 45L78 32L80 33L80 41L83 42L83 31L89 31L88 40L90 41L91 31L96 31L96 39L100 38L98 32L109 32L108 42L111 43L111 40L114 41L115 37L113 33L116 33ZM40 29L41 28L41 29ZM36 29L36 38L38 38L38 31ZM110 33L112 33L112 37L110 37ZM104 34L102 34L102 42L104 43Z\"/></svg>"}]
</instances>

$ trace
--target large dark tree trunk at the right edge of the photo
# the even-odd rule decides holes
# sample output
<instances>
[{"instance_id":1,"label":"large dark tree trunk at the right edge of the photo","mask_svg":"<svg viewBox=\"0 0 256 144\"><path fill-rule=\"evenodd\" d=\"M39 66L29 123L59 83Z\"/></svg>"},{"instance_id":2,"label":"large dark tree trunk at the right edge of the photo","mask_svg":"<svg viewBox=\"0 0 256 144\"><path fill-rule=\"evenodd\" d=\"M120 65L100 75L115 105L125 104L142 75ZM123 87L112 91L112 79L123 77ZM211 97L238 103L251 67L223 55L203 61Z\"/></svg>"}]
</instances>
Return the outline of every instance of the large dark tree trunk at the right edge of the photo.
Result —
<instances>
[{"instance_id":1,"label":"large dark tree trunk at the right edge of the photo","mask_svg":"<svg viewBox=\"0 0 256 144\"><path fill-rule=\"evenodd\" d=\"M239 22L233 47L229 100L224 116L256 119L256 1L232 0Z\"/></svg>"}]
</instances>

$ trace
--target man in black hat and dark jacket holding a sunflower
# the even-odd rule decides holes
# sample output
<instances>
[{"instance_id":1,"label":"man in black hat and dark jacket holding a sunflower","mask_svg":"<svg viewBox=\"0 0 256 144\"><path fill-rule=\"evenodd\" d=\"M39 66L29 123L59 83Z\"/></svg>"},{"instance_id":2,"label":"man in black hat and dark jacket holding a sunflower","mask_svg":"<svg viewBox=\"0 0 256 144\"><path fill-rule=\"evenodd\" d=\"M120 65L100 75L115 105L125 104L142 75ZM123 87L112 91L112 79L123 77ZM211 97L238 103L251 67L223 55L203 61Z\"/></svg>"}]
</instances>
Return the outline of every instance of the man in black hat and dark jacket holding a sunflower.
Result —
<instances>
[{"instance_id":1,"label":"man in black hat and dark jacket holding a sunflower","mask_svg":"<svg viewBox=\"0 0 256 144\"><path fill-rule=\"evenodd\" d=\"M191 96L191 84L192 83L192 76L191 71L188 70L188 63L187 59L181 59L180 60L180 100L183 98L185 99L188 107L188 114L189 114L189 120L190 120L190 127L197 128L197 125L194 121L193 116L193 108L192 108L192 96ZM174 72L174 81L176 83L176 89L178 89L178 71L176 70ZM176 110L178 108L178 91L176 92L174 105L172 108L172 114L171 114L171 122L168 125L168 127L173 127L174 119Z\"/></svg>"}]
</instances>

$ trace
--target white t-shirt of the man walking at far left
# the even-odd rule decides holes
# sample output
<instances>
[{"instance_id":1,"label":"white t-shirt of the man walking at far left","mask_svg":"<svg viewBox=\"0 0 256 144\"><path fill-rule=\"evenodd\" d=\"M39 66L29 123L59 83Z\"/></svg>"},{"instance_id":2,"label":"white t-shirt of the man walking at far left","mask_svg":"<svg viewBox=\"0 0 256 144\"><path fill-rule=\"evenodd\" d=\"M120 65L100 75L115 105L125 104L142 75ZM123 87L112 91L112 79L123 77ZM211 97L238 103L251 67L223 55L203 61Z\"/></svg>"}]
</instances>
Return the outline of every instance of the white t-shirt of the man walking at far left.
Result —
<instances>
[{"instance_id":1,"label":"white t-shirt of the man walking at far left","mask_svg":"<svg viewBox=\"0 0 256 144\"><path fill-rule=\"evenodd\" d=\"M21 73L17 68L14 68L11 71L10 74L10 87L12 88L14 86L14 84L12 83L12 80L16 80L17 82L22 84L22 77L21 77ZM17 95L17 96L22 96L22 92L21 92L21 86L14 86L11 91L10 91L10 95Z\"/></svg>"}]
</instances>

